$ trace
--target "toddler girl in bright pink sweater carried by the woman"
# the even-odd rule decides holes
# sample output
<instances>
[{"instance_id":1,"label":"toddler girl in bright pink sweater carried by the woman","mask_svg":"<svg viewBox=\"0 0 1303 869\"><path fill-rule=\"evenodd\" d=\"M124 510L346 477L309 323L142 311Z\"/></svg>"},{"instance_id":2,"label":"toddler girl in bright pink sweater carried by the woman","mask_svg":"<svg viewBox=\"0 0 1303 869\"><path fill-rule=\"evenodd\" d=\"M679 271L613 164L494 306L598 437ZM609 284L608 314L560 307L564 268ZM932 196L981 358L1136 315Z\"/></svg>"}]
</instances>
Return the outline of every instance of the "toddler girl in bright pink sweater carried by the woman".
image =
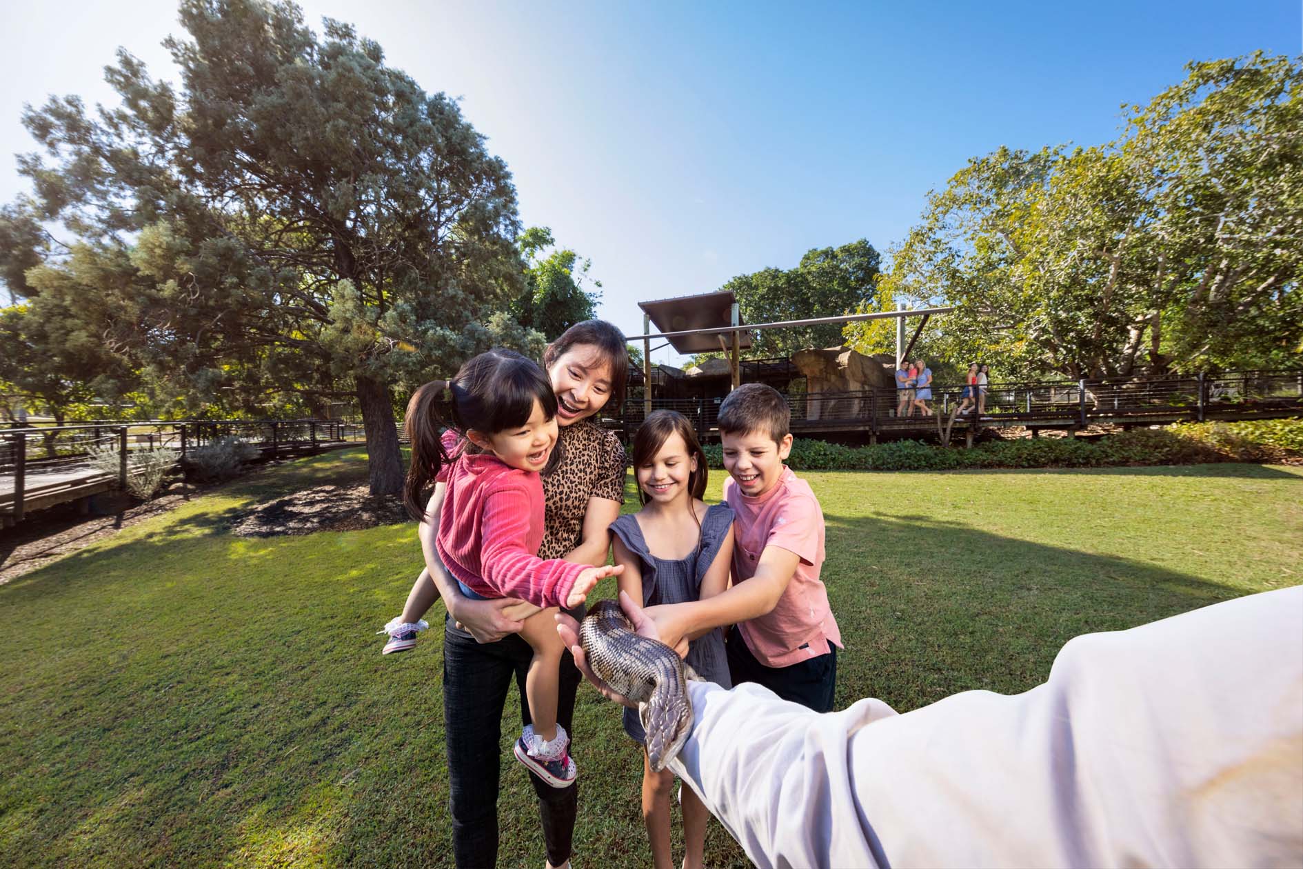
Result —
<instances>
[{"instance_id":1,"label":"toddler girl in bright pink sweater carried by the woman","mask_svg":"<svg viewBox=\"0 0 1303 869\"><path fill-rule=\"evenodd\" d=\"M575 607L619 567L589 567L536 555L543 538L543 489L538 472L556 444L556 396L534 362L511 350L482 353L451 380L452 421L440 438L426 384L408 406L412 464L404 502L418 521L422 494L447 486L435 547L468 597L513 597L545 607L525 619L520 636L533 649L525 693L533 724L516 741L516 758L552 787L575 780L569 739L556 722L558 668L564 651L555 607ZM524 606L524 605L521 605Z\"/></svg>"}]
</instances>

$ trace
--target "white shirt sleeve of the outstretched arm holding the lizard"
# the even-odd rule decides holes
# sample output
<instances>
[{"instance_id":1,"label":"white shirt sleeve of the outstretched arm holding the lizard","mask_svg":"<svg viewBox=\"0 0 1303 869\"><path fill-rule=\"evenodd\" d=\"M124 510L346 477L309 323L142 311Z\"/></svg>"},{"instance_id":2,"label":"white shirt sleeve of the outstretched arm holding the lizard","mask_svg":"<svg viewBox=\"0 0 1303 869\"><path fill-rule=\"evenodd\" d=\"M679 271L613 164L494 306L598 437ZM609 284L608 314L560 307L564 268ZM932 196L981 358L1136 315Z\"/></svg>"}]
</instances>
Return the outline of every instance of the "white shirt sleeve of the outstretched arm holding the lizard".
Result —
<instances>
[{"instance_id":1,"label":"white shirt sleeve of the outstretched arm holding the lizard","mask_svg":"<svg viewBox=\"0 0 1303 869\"><path fill-rule=\"evenodd\" d=\"M1063 646L1016 696L689 685L671 762L766 866L1303 864L1303 588Z\"/></svg>"}]
</instances>

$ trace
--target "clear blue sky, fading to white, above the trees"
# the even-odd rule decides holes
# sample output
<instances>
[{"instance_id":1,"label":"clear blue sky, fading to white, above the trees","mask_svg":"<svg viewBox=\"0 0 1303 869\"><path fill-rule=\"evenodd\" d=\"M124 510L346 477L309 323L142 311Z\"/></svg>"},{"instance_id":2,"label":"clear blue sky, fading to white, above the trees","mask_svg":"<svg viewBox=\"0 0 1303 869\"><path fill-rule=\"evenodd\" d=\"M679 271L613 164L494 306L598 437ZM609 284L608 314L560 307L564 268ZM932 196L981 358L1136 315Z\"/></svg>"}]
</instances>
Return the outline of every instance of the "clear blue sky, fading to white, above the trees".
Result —
<instances>
[{"instance_id":1,"label":"clear blue sky, fading to white, above the trees","mask_svg":"<svg viewBox=\"0 0 1303 869\"><path fill-rule=\"evenodd\" d=\"M886 250L969 156L1108 141L1121 104L1190 60L1303 50L1296 0L301 5L463 98L523 220L592 258L599 313L628 334L640 300L859 237ZM8 202L25 188L8 155L33 150L22 104L109 99L117 46L171 77L159 42L180 27L175 3L133 0L4 4L0 30Z\"/></svg>"}]
</instances>

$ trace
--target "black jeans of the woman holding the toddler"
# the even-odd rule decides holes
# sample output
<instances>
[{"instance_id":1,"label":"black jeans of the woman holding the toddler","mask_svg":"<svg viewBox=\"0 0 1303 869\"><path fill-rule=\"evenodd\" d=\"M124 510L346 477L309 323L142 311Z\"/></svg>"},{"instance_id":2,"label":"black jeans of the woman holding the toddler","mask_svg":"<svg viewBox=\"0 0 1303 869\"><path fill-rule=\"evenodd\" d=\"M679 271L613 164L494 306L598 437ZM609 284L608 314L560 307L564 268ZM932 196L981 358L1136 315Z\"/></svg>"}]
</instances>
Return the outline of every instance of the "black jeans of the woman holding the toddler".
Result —
<instances>
[{"instance_id":1,"label":"black jeans of the woman holding the toddler","mask_svg":"<svg viewBox=\"0 0 1303 869\"><path fill-rule=\"evenodd\" d=\"M443 629L443 724L452 805L452 853L460 869L498 864L498 774L502 767L502 710L512 676L520 689L521 723L528 724L525 672L534 653L519 636L478 644L448 619ZM562 657L556 720L571 730L579 670L569 651ZM520 766L512 761L512 766ZM521 766L521 773L526 770ZM554 788L533 773L547 860L559 866L571 855L577 784ZM511 806L520 812L524 806Z\"/></svg>"}]
</instances>

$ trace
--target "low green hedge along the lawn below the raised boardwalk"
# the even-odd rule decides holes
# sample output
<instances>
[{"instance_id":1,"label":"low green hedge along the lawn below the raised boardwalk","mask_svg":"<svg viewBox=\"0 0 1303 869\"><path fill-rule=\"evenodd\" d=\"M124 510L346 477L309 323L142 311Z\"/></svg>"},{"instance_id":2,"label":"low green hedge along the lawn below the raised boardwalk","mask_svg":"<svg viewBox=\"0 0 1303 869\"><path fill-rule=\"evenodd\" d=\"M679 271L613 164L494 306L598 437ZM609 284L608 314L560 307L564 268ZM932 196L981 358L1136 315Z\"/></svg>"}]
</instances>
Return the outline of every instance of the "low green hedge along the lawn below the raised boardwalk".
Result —
<instances>
[{"instance_id":1,"label":"low green hedge along the lawn below the raised boardwalk","mask_svg":"<svg viewBox=\"0 0 1303 869\"><path fill-rule=\"evenodd\" d=\"M705 447L711 468L722 468L719 444ZM846 447L797 438L787 464L796 470L954 470L960 468L1101 468L1187 465L1213 461L1282 461L1303 457L1303 420L1178 423L1134 429L1098 440L1024 438L993 440L972 449L917 440Z\"/></svg>"}]
</instances>

